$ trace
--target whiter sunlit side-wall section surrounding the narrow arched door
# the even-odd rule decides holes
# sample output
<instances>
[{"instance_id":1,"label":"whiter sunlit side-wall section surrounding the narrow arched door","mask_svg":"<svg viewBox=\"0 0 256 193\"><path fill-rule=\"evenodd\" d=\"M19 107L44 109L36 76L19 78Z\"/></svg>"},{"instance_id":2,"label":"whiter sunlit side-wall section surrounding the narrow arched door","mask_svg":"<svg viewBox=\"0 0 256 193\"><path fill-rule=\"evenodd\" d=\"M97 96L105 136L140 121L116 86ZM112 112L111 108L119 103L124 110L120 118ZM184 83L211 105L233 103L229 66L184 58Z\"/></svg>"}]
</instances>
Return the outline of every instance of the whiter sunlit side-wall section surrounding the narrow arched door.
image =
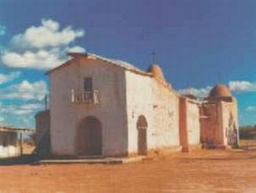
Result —
<instances>
[{"instance_id":1,"label":"whiter sunlit side-wall section surrounding the narrow arched door","mask_svg":"<svg viewBox=\"0 0 256 193\"><path fill-rule=\"evenodd\" d=\"M137 121L139 116L145 116L148 127L146 128L147 143L153 146L153 97L151 77L126 71L126 100L128 116L128 153L138 152Z\"/></svg>"}]
</instances>

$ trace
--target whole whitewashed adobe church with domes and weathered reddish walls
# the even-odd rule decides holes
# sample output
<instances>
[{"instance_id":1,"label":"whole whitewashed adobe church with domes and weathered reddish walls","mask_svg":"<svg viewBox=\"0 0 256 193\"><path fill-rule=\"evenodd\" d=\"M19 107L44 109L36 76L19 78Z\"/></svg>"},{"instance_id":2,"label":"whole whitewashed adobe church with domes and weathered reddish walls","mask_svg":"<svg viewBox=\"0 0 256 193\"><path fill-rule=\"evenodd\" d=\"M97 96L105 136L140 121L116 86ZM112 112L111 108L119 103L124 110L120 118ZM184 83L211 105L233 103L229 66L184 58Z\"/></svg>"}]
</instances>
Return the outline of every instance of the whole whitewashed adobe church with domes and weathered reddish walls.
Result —
<instances>
[{"instance_id":1,"label":"whole whitewashed adobe church with domes and weathered reddish walls","mask_svg":"<svg viewBox=\"0 0 256 193\"><path fill-rule=\"evenodd\" d=\"M39 154L132 156L238 145L236 99L224 85L200 101L178 94L158 65L142 71L90 53L70 56L47 73L49 111L36 116Z\"/></svg>"}]
</instances>

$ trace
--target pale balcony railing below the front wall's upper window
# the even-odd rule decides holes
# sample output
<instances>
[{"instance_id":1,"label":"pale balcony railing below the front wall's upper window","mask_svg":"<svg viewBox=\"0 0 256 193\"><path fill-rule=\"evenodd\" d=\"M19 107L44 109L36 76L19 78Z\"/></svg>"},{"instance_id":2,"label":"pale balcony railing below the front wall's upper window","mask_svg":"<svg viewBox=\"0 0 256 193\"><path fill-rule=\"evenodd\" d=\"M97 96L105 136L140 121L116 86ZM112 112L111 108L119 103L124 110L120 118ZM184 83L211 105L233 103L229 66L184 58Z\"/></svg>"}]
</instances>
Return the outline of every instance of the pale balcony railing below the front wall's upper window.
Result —
<instances>
[{"instance_id":1,"label":"pale balcony railing below the front wall's upper window","mask_svg":"<svg viewBox=\"0 0 256 193\"><path fill-rule=\"evenodd\" d=\"M75 92L71 90L71 102L99 105L99 91Z\"/></svg>"}]
</instances>

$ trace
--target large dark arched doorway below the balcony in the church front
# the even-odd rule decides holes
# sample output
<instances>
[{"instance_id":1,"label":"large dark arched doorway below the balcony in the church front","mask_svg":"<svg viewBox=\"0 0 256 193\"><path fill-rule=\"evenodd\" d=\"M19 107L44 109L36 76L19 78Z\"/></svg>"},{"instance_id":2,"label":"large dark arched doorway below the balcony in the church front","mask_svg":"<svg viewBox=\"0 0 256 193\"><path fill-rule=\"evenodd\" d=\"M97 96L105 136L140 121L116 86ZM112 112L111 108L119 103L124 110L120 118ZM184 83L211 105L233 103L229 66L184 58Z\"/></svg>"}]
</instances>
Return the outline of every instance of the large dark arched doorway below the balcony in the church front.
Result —
<instances>
[{"instance_id":1,"label":"large dark arched doorway below the balcony in the church front","mask_svg":"<svg viewBox=\"0 0 256 193\"><path fill-rule=\"evenodd\" d=\"M102 155L102 126L95 116L81 120L77 139L78 155Z\"/></svg>"}]
</instances>

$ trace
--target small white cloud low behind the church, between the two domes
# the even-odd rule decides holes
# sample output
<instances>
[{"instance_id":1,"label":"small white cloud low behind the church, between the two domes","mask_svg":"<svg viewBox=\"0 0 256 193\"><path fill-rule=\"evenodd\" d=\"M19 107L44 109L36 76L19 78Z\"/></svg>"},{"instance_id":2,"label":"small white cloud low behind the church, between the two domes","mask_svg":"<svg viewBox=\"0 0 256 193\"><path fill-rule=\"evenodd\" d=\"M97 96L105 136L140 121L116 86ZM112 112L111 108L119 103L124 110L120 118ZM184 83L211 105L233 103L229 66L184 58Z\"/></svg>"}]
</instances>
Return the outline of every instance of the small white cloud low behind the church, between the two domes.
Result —
<instances>
[{"instance_id":1,"label":"small white cloud low behind the church, between the two domes","mask_svg":"<svg viewBox=\"0 0 256 193\"><path fill-rule=\"evenodd\" d=\"M211 88L210 86L206 88L183 88L178 90L178 92L182 95L194 95L197 98L205 98L209 95Z\"/></svg>"}]
</instances>

